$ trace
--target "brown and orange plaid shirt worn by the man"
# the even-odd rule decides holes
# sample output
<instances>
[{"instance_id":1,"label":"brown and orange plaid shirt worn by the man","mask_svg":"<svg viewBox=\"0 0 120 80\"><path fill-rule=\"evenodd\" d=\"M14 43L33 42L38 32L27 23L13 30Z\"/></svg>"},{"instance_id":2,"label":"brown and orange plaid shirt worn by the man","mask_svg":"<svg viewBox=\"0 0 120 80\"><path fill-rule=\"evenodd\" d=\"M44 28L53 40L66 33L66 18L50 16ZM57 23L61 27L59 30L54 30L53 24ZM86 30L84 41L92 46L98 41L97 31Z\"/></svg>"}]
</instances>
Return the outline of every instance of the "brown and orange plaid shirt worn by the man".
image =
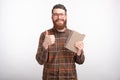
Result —
<instances>
[{"instance_id":1,"label":"brown and orange plaid shirt worn by the man","mask_svg":"<svg viewBox=\"0 0 120 80\"><path fill-rule=\"evenodd\" d=\"M49 34L55 35L55 44L46 50L42 44L45 38L45 32L40 36L36 60L39 64L44 64L43 80L77 80L75 62L82 64L84 62L84 52L81 55L64 48L64 44L72 30L66 29L64 32L58 32L52 28L48 30Z\"/></svg>"}]
</instances>

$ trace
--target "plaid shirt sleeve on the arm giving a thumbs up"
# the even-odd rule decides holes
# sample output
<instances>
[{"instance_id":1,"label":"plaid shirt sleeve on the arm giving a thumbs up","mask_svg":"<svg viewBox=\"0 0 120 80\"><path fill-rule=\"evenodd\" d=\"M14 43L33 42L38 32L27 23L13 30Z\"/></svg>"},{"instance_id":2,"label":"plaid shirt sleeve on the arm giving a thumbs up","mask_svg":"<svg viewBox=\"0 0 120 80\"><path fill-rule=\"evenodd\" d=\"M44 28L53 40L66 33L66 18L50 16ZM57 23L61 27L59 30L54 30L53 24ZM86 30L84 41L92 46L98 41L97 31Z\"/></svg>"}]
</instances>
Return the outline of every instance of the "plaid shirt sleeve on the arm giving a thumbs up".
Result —
<instances>
[{"instance_id":1,"label":"plaid shirt sleeve on the arm giving a thumbs up","mask_svg":"<svg viewBox=\"0 0 120 80\"><path fill-rule=\"evenodd\" d=\"M39 39L37 54L36 54L36 60L39 64L44 64L47 62L48 58L48 50L43 47L43 41L44 41L45 35L42 33Z\"/></svg>"}]
</instances>

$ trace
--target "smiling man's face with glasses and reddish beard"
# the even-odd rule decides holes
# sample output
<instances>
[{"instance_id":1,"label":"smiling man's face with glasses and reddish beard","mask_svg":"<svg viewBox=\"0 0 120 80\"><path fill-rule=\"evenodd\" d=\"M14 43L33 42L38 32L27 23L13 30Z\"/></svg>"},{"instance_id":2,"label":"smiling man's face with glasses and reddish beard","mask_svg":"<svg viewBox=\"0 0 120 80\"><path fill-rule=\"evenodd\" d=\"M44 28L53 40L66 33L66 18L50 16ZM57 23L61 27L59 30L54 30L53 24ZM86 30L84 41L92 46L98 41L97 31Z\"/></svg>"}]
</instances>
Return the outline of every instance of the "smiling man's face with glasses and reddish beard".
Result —
<instances>
[{"instance_id":1,"label":"smiling man's face with glasses and reddish beard","mask_svg":"<svg viewBox=\"0 0 120 80\"><path fill-rule=\"evenodd\" d=\"M64 29L66 27L67 16L65 10L56 8L53 10L52 21L54 27L58 30Z\"/></svg>"}]
</instances>

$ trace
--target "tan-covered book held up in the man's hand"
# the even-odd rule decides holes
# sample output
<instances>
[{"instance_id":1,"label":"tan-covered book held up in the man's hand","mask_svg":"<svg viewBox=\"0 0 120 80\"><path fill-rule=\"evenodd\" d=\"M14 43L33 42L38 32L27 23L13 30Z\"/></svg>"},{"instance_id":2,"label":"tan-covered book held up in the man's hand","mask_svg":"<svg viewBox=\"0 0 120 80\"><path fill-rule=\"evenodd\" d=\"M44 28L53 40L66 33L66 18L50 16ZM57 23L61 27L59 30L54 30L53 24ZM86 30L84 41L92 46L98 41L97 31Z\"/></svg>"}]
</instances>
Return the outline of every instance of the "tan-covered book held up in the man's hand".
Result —
<instances>
[{"instance_id":1,"label":"tan-covered book held up in the man's hand","mask_svg":"<svg viewBox=\"0 0 120 80\"><path fill-rule=\"evenodd\" d=\"M85 34L80 34L76 31L72 31L68 36L68 39L65 43L65 48L69 49L72 52L77 52L77 48L75 47L75 43L78 41L83 41Z\"/></svg>"}]
</instances>

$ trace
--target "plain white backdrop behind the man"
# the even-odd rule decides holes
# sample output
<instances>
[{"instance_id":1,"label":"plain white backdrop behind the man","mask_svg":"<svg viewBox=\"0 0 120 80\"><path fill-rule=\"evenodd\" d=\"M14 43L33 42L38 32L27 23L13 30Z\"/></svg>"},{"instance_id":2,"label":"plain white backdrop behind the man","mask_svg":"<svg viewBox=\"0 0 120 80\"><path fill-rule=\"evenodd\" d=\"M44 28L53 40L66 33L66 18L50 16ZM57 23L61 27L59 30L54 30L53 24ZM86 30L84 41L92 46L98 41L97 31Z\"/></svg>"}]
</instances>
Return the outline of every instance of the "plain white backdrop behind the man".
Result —
<instances>
[{"instance_id":1,"label":"plain white backdrop behind the man","mask_svg":"<svg viewBox=\"0 0 120 80\"><path fill-rule=\"evenodd\" d=\"M67 26L86 34L78 80L120 80L120 0L0 0L0 80L41 80L35 60L51 9L64 4Z\"/></svg>"}]
</instances>

